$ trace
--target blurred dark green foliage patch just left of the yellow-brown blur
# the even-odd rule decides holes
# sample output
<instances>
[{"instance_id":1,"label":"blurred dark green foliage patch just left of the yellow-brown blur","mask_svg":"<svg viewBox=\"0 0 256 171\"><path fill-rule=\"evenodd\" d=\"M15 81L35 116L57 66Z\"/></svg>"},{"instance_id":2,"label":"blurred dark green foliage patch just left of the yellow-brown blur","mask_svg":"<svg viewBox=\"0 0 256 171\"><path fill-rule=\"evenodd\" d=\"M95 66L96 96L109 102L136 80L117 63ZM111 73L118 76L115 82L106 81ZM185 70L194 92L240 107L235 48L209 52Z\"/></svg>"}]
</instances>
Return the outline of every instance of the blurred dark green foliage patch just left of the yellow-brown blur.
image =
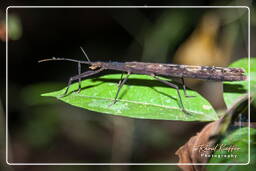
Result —
<instances>
[{"instance_id":1,"label":"blurred dark green foliage patch just left of the yellow-brown blur","mask_svg":"<svg viewBox=\"0 0 256 171\"><path fill-rule=\"evenodd\" d=\"M143 44L142 61L170 62L170 52L174 52L177 42L188 32L194 18L189 17L191 11L166 10L157 22L147 28ZM175 23L175 26L173 25Z\"/></svg>"}]
</instances>

